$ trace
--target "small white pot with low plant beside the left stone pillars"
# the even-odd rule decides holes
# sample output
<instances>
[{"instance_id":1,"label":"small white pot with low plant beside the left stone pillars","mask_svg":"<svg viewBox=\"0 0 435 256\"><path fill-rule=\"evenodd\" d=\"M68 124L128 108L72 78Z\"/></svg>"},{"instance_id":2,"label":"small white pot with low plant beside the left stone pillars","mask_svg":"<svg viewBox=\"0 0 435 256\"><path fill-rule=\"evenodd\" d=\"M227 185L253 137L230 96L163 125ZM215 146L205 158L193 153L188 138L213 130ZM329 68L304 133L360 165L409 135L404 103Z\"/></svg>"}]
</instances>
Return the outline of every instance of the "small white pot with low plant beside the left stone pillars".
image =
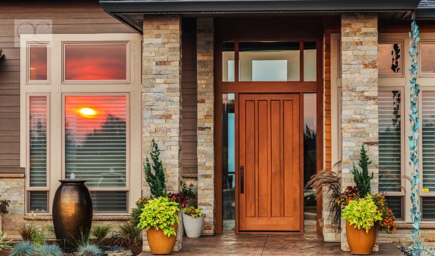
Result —
<instances>
[{"instance_id":1,"label":"small white pot with low plant beside the left stone pillars","mask_svg":"<svg viewBox=\"0 0 435 256\"><path fill-rule=\"evenodd\" d=\"M202 208L190 206L183 209L184 229L188 238L199 238L204 226L204 214Z\"/></svg>"}]
</instances>

